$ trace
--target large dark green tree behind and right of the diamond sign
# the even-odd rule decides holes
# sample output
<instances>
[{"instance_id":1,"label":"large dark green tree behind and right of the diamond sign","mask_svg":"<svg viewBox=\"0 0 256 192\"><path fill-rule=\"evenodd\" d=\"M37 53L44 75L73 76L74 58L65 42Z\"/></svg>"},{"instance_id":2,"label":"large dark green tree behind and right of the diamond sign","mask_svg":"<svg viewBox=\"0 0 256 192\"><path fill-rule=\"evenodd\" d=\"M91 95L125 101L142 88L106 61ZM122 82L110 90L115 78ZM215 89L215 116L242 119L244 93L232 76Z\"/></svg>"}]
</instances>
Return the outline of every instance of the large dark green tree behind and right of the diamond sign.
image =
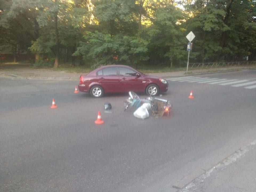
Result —
<instances>
[{"instance_id":1,"label":"large dark green tree behind and right of the diamond sign","mask_svg":"<svg viewBox=\"0 0 256 192\"><path fill-rule=\"evenodd\" d=\"M195 1L193 4L186 1L184 7L187 15L191 15L185 27L196 35L192 52L194 58L203 62L239 60L241 54L248 52L241 38L249 38L248 30L255 29L252 15L255 1L212 0Z\"/></svg>"}]
</instances>

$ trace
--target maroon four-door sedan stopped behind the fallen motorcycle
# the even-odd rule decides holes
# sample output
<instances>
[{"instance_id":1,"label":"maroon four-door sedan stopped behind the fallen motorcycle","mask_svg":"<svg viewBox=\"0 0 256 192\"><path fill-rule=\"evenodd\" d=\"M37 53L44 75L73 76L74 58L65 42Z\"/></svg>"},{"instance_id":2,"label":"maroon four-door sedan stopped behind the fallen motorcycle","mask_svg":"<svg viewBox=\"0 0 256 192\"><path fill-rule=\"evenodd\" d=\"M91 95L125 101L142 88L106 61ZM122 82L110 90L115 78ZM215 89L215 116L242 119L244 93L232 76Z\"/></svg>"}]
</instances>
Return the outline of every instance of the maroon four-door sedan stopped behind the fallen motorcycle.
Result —
<instances>
[{"instance_id":1,"label":"maroon four-door sedan stopped behind the fallen motorcycle","mask_svg":"<svg viewBox=\"0 0 256 192\"><path fill-rule=\"evenodd\" d=\"M93 97L128 91L158 95L168 90L168 83L165 79L145 75L126 65L106 65L81 75L78 89Z\"/></svg>"}]
</instances>

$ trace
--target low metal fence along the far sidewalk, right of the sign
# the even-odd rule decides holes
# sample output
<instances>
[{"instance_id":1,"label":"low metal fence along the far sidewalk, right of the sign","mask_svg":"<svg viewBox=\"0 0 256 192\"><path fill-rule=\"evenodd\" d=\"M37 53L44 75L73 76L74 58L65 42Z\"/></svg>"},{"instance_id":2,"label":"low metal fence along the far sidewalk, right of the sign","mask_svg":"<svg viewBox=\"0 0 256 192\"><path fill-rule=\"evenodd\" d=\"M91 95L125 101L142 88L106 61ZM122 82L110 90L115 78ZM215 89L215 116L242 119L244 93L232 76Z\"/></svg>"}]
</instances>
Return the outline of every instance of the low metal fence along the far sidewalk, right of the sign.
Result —
<instances>
[{"instance_id":1,"label":"low metal fence along the far sidewalk, right of the sign","mask_svg":"<svg viewBox=\"0 0 256 192\"><path fill-rule=\"evenodd\" d=\"M189 63L189 69L196 68L213 68L213 67L231 67L231 66L250 66L256 65L256 61L239 61L239 62L214 62L214 63Z\"/></svg>"}]
</instances>

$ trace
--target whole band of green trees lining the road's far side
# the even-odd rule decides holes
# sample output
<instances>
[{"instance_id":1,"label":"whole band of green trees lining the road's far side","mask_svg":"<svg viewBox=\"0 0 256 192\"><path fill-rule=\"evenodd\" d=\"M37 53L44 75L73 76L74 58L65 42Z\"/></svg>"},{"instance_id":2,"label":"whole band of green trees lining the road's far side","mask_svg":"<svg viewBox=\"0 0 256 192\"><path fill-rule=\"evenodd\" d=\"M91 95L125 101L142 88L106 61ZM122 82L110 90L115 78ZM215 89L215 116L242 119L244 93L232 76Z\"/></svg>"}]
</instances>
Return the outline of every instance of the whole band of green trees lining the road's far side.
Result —
<instances>
[{"instance_id":1,"label":"whole band of green trees lining the road's far side","mask_svg":"<svg viewBox=\"0 0 256 192\"><path fill-rule=\"evenodd\" d=\"M1 47L49 59L180 66L256 59L255 0L0 0ZM2 49L1 49L2 50ZM2 50L3 51L3 50ZM82 62L81 62L82 63ZM93 63L93 64L91 64Z\"/></svg>"}]
</instances>

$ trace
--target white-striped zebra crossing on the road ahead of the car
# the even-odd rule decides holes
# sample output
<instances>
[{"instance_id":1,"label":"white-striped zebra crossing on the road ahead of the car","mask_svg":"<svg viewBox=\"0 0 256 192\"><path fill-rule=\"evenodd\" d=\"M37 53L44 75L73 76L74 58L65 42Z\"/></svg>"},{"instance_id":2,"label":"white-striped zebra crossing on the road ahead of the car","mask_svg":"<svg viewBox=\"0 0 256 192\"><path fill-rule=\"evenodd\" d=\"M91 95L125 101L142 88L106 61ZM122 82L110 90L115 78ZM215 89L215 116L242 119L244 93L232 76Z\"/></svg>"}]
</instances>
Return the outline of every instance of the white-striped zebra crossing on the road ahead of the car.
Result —
<instances>
[{"instance_id":1,"label":"white-striped zebra crossing on the road ahead of the car","mask_svg":"<svg viewBox=\"0 0 256 192\"><path fill-rule=\"evenodd\" d=\"M255 78L256 79L256 78ZM210 78L210 77L198 77L198 76L186 76L186 77L174 77L166 79L167 81L178 81L178 82L188 82L188 83L207 83L211 85L228 85L232 87L243 87L245 89L255 89L256 81L251 79L220 79L220 78Z\"/></svg>"}]
</instances>

